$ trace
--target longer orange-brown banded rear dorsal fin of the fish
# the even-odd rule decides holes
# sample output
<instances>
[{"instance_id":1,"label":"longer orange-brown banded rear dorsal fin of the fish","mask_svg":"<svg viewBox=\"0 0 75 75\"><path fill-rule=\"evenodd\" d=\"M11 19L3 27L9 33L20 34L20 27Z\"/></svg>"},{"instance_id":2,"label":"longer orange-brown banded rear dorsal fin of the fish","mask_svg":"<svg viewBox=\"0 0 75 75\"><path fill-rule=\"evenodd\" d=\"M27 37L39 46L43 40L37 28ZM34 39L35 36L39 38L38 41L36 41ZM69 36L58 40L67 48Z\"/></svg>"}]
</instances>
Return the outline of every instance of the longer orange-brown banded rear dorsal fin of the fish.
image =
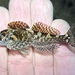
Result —
<instances>
[{"instance_id":1,"label":"longer orange-brown banded rear dorsal fin of the fish","mask_svg":"<svg viewBox=\"0 0 75 75\"><path fill-rule=\"evenodd\" d=\"M38 23L33 24L32 30L37 31L37 32L39 31L42 33L49 33L52 35L59 35L60 34L60 32L57 29L55 29L51 26L48 26L42 22L38 22Z\"/></svg>"}]
</instances>

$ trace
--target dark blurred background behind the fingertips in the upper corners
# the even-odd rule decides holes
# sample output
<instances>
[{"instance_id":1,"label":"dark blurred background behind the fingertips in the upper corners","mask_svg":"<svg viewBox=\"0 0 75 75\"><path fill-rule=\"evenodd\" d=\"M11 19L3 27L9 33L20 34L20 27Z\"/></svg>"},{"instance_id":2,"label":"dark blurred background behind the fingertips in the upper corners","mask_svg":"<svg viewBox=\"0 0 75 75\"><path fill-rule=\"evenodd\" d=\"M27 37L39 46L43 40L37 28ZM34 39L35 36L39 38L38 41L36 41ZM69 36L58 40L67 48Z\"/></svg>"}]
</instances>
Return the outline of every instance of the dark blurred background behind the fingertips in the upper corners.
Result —
<instances>
[{"instance_id":1,"label":"dark blurred background behind the fingertips in the upper corners","mask_svg":"<svg viewBox=\"0 0 75 75\"><path fill-rule=\"evenodd\" d=\"M75 0L51 0L54 6L54 19L64 19L70 25L75 23ZM8 9L9 0L0 0L0 6Z\"/></svg>"}]
</instances>

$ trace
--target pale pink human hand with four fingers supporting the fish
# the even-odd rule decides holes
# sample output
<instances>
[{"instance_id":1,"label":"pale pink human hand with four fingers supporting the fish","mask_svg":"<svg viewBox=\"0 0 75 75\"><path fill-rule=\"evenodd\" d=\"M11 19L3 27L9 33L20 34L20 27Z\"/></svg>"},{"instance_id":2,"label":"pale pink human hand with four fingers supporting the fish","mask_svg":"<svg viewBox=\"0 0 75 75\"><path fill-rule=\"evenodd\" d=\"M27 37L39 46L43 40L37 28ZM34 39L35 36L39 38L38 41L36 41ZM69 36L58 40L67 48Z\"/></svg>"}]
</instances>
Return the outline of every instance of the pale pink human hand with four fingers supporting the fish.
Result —
<instances>
[{"instance_id":1,"label":"pale pink human hand with four fingers supporting the fish","mask_svg":"<svg viewBox=\"0 0 75 75\"><path fill-rule=\"evenodd\" d=\"M30 27L35 22L43 22L58 29L60 35L70 28L62 19L53 20L50 0L10 0L9 11L0 7L0 30L6 29L12 21L23 21ZM0 75L75 75L75 54L67 44L61 44L48 54L30 48L27 56L0 47Z\"/></svg>"}]
</instances>

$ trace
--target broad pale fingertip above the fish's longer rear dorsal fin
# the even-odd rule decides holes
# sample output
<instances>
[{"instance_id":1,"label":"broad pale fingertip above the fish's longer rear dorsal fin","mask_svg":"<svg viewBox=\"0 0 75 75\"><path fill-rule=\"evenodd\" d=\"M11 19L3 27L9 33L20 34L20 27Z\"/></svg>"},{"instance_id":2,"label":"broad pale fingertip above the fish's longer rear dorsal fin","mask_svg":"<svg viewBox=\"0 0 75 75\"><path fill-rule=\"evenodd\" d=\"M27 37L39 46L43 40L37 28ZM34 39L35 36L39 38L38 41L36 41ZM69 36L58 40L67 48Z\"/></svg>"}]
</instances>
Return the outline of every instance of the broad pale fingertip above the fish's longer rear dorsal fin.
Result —
<instances>
[{"instance_id":1,"label":"broad pale fingertip above the fish's longer rear dorsal fin","mask_svg":"<svg viewBox=\"0 0 75 75\"><path fill-rule=\"evenodd\" d=\"M45 22L50 25L53 20L53 5L50 0L33 0L31 4L32 25Z\"/></svg>"}]
</instances>

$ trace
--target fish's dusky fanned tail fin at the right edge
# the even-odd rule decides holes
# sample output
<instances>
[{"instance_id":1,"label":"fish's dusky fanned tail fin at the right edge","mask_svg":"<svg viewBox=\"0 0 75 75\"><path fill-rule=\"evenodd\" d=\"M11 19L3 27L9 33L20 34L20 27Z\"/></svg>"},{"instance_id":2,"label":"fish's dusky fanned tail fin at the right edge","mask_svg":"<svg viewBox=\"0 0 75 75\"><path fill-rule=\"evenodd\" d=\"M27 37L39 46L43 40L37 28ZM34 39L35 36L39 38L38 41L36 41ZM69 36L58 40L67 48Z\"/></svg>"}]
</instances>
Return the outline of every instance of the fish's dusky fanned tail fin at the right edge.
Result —
<instances>
[{"instance_id":1,"label":"fish's dusky fanned tail fin at the right edge","mask_svg":"<svg viewBox=\"0 0 75 75\"><path fill-rule=\"evenodd\" d=\"M75 24L72 25L72 27L69 29L69 31L67 32L68 36L70 37L69 39L69 44L72 47L75 47Z\"/></svg>"}]
</instances>

